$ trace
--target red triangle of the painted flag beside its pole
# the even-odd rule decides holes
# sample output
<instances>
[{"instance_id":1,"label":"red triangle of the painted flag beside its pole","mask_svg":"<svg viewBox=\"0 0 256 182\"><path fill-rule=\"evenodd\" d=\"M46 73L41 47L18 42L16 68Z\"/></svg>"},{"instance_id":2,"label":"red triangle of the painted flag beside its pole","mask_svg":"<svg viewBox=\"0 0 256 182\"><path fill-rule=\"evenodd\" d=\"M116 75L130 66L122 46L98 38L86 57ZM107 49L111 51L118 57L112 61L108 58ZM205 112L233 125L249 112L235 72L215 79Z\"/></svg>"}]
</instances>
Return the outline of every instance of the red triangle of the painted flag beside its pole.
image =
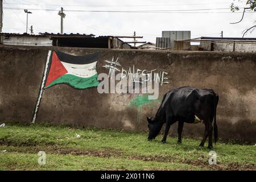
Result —
<instances>
[{"instance_id":1,"label":"red triangle of the painted flag beside its pole","mask_svg":"<svg viewBox=\"0 0 256 182\"><path fill-rule=\"evenodd\" d=\"M60 62L59 57L57 56L56 52L52 52L52 63L51 68L49 70L47 81L46 81L46 87L51 84L54 80L57 78L65 75L68 73L67 69L64 67L64 65Z\"/></svg>"}]
</instances>

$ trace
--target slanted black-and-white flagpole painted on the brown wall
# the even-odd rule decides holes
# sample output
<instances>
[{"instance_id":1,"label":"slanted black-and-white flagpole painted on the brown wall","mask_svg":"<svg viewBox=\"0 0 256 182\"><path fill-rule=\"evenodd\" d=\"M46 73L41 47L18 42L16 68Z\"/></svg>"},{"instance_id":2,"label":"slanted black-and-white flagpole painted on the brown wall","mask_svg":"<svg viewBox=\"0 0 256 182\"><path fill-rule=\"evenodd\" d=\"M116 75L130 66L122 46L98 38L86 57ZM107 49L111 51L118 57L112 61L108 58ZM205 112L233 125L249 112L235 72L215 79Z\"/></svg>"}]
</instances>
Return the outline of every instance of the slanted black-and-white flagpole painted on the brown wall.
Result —
<instances>
[{"instance_id":1,"label":"slanted black-and-white flagpole painted on the brown wall","mask_svg":"<svg viewBox=\"0 0 256 182\"><path fill-rule=\"evenodd\" d=\"M39 105L40 105L40 102L42 100L43 90L44 90L44 85L46 83L46 75L47 75L47 72L48 72L48 69L49 69L49 62L50 62L49 60L51 58L51 55L52 55L52 51L49 51L48 55L47 55L46 66L44 68L43 79L42 79L40 89L39 89L38 100L36 101L36 106L35 106L35 110L34 110L34 113L33 113L32 123L35 123L36 115L38 114Z\"/></svg>"}]
</instances>

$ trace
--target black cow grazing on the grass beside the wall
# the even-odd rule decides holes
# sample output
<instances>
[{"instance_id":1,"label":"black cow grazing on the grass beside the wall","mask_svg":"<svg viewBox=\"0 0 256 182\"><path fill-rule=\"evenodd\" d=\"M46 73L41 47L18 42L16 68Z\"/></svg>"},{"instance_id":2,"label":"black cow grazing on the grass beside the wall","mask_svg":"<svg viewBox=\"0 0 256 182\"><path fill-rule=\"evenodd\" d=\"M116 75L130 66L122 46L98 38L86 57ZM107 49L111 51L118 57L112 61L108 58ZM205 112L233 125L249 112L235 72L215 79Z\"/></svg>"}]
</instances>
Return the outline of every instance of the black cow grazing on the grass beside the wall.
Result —
<instances>
[{"instance_id":1,"label":"black cow grazing on the grass beside the wall","mask_svg":"<svg viewBox=\"0 0 256 182\"><path fill-rule=\"evenodd\" d=\"M191 87L181 87L171 89L164 94L155 117L147 118L149 135L148 140L155 139L160 133L162 126L166 123L166 130L162 142L166 142L166 137L170 126L176 121L178 125L178 143L181 143L181 133L184 122L195 123L196 118L203 120L205 125L204 138L200 146L204 146L205 140L209 137L208 148L212 148L212 121L214 118L214 142L218 140L218 128L216 123L216 109L218 105L218 94L212 89L196 89Z\"/></svg>"}]
</instances>

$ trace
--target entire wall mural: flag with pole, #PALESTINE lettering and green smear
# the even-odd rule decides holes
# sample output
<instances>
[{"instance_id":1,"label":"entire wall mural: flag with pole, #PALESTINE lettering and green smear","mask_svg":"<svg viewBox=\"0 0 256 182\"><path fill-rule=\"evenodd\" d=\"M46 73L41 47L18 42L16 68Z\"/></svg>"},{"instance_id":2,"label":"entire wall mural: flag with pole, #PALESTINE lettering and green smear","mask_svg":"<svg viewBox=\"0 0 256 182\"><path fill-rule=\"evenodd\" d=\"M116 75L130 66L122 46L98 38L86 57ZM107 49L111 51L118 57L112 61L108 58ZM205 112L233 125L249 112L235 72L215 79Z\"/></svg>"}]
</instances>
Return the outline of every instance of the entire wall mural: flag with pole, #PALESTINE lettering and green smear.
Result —
<instances>
[{"instance_id":1,"label":"entire wall mural: flag with pole, #PALESTINE lettering and green smear","mask_svg":"<svg viewBox=\"0 0 256 182\"><path fill-rule=\"evenodd\" d=\"M167 72L158 71L156 69L135 69L134 64L126 70L120 63L118 63L118 58L114 60L113 57L112 60L105 60L104 62L106 64L102 66L109 69L108 75L106 73L100 73L98 75L96 65L99 55L99 52L94 52L85 56L73 56L60 51L48 52L32 123L35 123L40 101L42 100L43 91L45 89L57 84L67 84L75 89L88 89L97 86L98 93L118 93L115 92L115 87L114 92L112 92L113 90L111 91L112 84L110 84L110 86L109 84L108 86L104 86L105 89L106 87L107 89L110 87L110 92L105 92L105 90L101 92L99 89L100 84L102 86L103 81L99 82L98 79L106 76L110 78L110 80L104 79L105 82L109 83L110 81L115 83L115 73L121 75L119 77L121 79L120 82L124 82L124 80L131 80L130 82L132 82L132 85L125 88L123 93L131 94L133 97L129 106L137 108L137 122L141 120L143 106L154 107L158 105L160 102L158 99L159 85L162 86L163 84L169 83L168 78L166 77L168 75ZM152 82L154 82L154 87L152 87ZM127 86L127 82L125 83ZM142 92L140 90L142 90ZM155 91L157 92L156 97L151 98L149 93L155 93Z\"/></svg>"}]
</instances>

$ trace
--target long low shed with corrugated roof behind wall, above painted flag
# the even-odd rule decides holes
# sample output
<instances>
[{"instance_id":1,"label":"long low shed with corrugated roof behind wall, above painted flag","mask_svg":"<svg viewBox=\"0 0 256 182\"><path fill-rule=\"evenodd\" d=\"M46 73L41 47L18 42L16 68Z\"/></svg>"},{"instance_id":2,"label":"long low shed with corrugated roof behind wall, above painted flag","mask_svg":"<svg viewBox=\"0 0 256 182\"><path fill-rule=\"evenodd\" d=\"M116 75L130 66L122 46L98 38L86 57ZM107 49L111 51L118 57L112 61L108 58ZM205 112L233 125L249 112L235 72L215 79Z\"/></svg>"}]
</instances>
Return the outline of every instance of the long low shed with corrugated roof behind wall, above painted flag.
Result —
<instances>
[{"instance_id":1,"label":"long low shed with corrugated roof behind wall, above painted flag","mask_svg":"<svg viewBox=\"0 0 256 182\"><path fill-rule=\"evenodd\" d=\"M11 34L0 33L3 45L13 46L57 46L57 47L88 47L130 49L131 46L114 36L98 36L90 34Z\"/></svg>"}]
</instances>

